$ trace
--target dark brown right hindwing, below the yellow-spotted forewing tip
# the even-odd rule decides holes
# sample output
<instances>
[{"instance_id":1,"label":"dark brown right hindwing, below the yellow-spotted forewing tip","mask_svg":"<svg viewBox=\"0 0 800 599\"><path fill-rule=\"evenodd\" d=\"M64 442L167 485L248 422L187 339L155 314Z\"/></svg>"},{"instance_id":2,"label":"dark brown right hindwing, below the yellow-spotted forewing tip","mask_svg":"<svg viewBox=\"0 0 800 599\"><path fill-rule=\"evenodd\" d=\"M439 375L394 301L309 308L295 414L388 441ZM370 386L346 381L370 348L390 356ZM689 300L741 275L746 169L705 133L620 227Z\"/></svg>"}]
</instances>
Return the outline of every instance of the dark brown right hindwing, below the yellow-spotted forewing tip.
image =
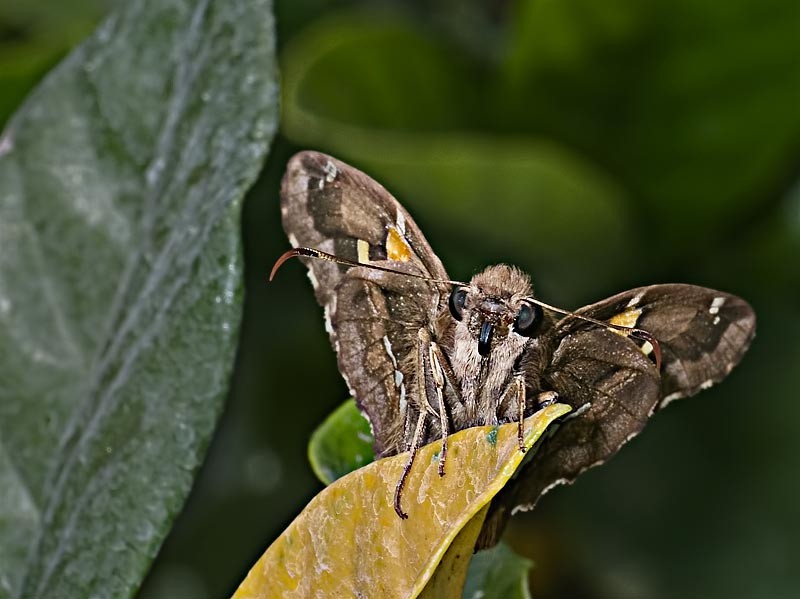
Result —
<instances>
[{"instance_id":1,"label":"dark brown right hindwing, below the yellow-spotted forewing tip","mask_svg":"<svg viewBox=\"0 0 800 599\"><path fill-rule=\"evenodd\" d=\"M516 484L492 501L480 548L497 543L512 510L532 508L551 488L617 453L642 430L660 397L653 362L629 339L596 326L560 339L543 382L573 411L523 464Z\"/></svg>"}]
</instances>

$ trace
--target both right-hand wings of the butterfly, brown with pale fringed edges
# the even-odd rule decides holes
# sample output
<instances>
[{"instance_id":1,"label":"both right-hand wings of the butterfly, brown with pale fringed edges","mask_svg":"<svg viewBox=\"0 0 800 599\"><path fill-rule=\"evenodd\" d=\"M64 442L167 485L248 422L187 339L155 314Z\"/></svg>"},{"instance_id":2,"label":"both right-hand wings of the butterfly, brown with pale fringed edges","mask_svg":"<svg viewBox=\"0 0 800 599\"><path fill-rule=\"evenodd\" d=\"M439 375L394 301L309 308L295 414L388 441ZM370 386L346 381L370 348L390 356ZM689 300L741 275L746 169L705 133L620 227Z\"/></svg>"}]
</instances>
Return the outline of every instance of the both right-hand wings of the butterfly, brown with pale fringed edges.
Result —
<instances>
[{"instance_id":1,"label":"both right-hand wings of the butterfly, brown with pale fringed edges","mask_svg":"<svg viewBox=\"0 0 800 599\"><path fill-rule=\"evenodd\" d=\"M577 312L652 333L661 371L648 347L573 317L559 321L544 379L575 411L524 467L518 484L495 499L481 546L496 542L511 509L533 507L552 487L612 457L656 409L722 380L755 335L747 302L693 285L632 289Z\"/></svg>"}]
</instances>

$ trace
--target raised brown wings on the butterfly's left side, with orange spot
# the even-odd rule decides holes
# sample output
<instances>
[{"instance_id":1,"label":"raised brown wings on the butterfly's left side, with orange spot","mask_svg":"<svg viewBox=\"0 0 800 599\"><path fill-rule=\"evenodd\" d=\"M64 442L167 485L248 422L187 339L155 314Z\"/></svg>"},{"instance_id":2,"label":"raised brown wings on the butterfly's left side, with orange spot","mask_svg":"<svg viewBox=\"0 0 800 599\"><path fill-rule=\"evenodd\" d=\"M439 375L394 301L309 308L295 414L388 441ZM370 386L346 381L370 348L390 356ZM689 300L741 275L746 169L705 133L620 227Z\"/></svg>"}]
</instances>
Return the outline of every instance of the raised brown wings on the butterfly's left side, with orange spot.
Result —
<instances>
[{"instance_id":1,"label":"raised brown wings on the butterfly's left side, with orange spot","mask_svg":"<svg viewBox=\"0 0 800 599\"><path fill-rule=\"evenodd\" d=\"M405 209L364 173L317 152L295 155L281 187L294 247L446 279ZM378 455L402 451L405 396L417 331L446 301L446 287L367 268L304 259L339 370L372 425ZM444 299L443 299L444 298Z\"/></svg>"}]
</instances>

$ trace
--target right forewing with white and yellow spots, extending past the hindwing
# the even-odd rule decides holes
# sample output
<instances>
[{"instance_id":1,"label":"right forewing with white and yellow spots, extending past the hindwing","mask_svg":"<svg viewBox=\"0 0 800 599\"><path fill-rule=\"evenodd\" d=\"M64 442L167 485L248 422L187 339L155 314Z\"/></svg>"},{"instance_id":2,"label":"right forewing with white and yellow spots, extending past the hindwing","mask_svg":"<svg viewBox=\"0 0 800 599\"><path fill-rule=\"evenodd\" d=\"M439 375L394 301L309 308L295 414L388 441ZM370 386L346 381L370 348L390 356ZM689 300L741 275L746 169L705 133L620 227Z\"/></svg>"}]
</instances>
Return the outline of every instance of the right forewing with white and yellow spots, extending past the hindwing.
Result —
<instances>
[{"instance_id":1,"label":"right forewing with white and yellow spots, extending past the hindwing","mask_svg":"<svg viewBox=\"0 0 800 599\"><path fill-rule=\"evenodd\" d=\"M742 298L695 285L631 289L578 313L653 334L662 358L659 407L725 378L756 327L755 313Z\"/></svg>"}]
</instances>

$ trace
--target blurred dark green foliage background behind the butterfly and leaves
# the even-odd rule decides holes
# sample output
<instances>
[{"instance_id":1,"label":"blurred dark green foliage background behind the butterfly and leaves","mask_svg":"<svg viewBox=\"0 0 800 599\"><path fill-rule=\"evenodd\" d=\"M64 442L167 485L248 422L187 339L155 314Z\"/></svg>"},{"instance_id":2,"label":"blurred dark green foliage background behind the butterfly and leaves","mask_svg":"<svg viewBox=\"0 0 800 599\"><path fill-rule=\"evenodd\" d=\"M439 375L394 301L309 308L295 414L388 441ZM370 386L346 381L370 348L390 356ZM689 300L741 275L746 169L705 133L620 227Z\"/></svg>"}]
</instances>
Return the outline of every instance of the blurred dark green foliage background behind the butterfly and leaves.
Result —
<instances>
[{"instance_id":1,"label":"blurred dark green foliage background behind the butterfly and leaves","mask_svg":"<svg viewBox=\"0 0 800 599\"><path fill-rule=\"evenodd\" d=\"M0 122L110 9L0 0ZM452 277L506 261L577 308L659 282L748 299L730 378L512 520L534 597L800 594L800 5L795 0L277 0L283 122L243 217L230 398L140 596L228 596L321 488L347 390L278 188L334 154L414 215ZM402 564L398 564L402 567Z\"/></svg>"}]
</instances>

